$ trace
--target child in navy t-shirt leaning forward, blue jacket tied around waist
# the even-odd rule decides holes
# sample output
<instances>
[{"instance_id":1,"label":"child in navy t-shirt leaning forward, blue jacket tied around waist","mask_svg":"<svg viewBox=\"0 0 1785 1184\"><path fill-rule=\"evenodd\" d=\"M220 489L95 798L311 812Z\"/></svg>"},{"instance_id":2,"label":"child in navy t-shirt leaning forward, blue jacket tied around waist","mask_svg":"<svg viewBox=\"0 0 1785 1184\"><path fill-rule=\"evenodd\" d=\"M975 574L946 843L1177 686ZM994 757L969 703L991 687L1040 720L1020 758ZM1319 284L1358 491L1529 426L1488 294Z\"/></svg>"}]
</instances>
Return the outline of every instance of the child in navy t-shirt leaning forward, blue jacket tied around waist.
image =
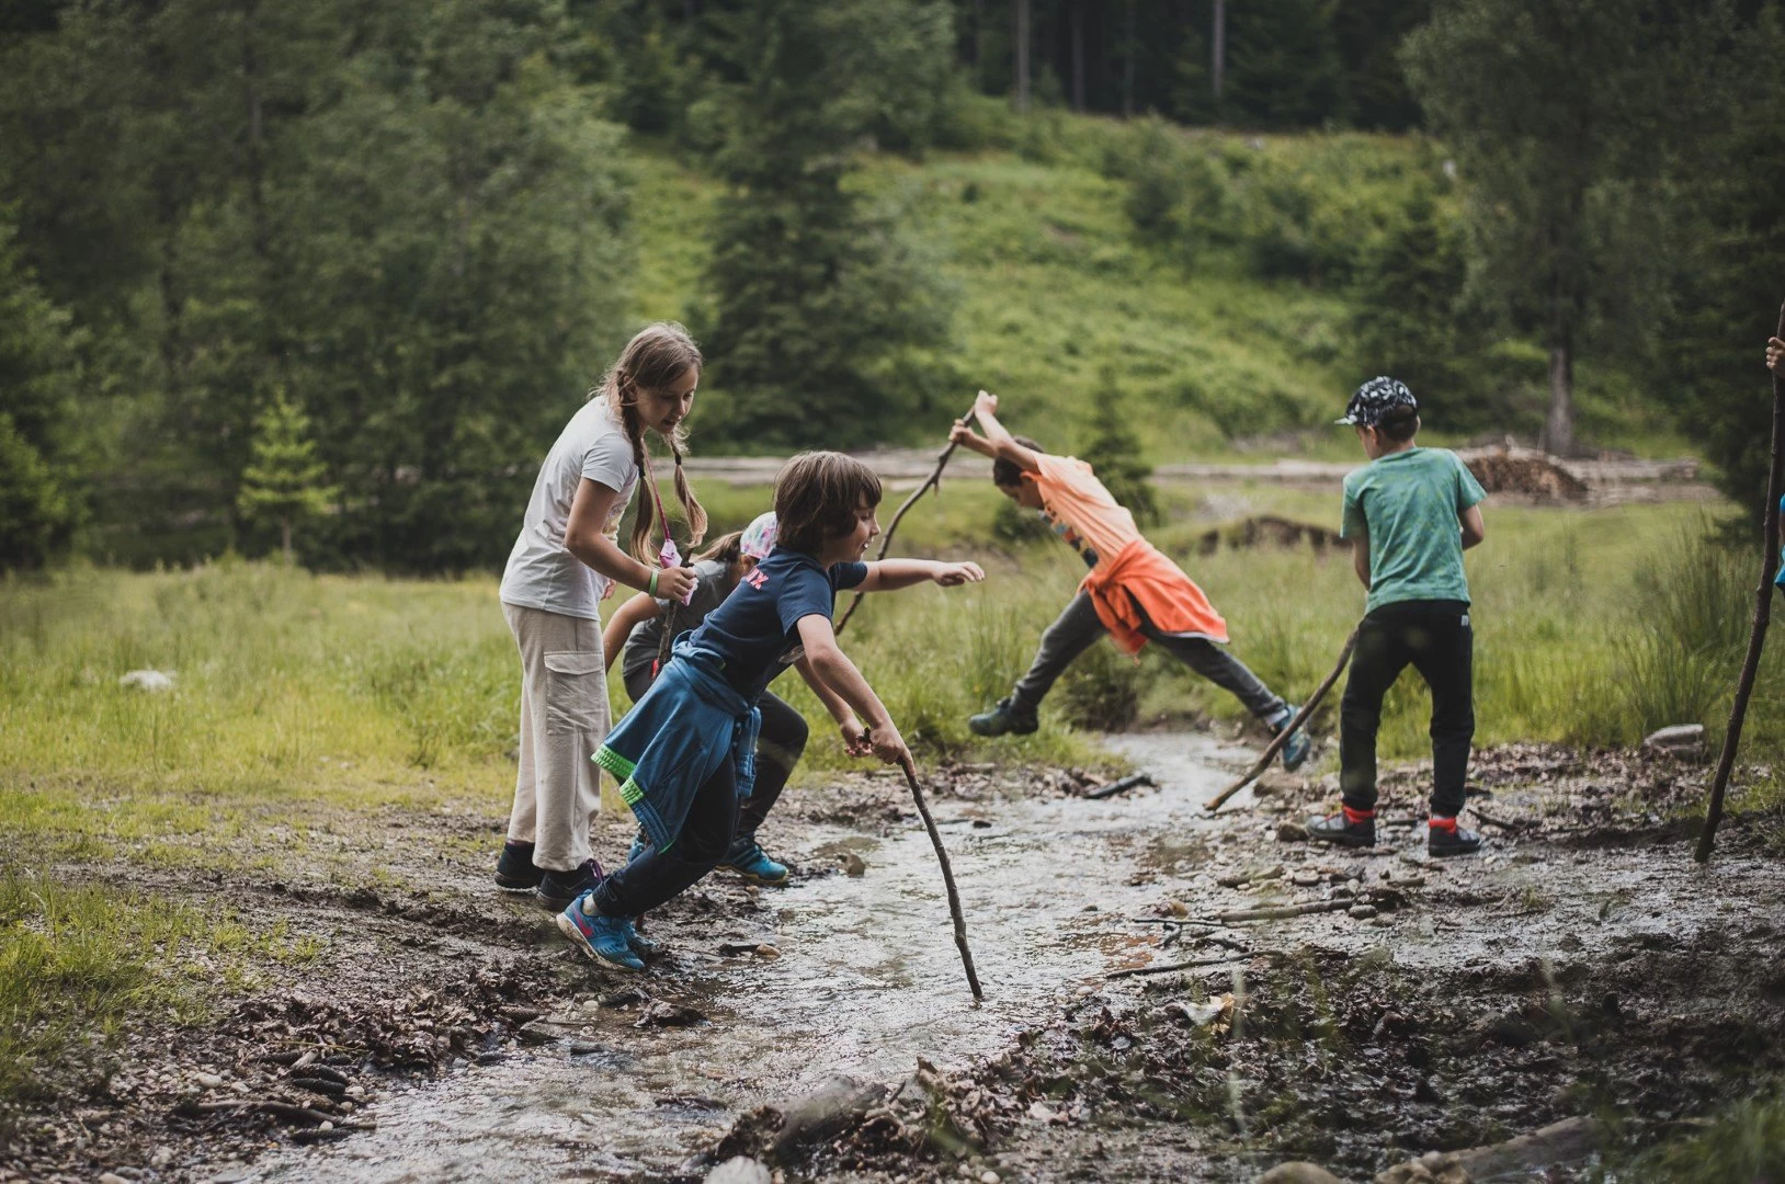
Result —
<instances>
[{"instance_id":1,"label":"child in navy t-shirt leaning forward, blue jacket tied around waist","mask_svg":"<svg viewBox=\"0 0 1785 1184\"><path fill-rule=\"evenodd\" d=\"M725 604L675 648L652 688L609 732L594 761L621 779L619 795L648 838L643 850L577 896L559 929L589 957L643 970L634 918L712 871L750 793L757 700L787 666L801 664L866 721L851 755L910 759L885 705L830 625L837 591L892 591L925 580L975 584L973 563L860 563L880 534L880 479L841 452L807 452L775 480L778 538Z\"/></svg>"}]
</instances>

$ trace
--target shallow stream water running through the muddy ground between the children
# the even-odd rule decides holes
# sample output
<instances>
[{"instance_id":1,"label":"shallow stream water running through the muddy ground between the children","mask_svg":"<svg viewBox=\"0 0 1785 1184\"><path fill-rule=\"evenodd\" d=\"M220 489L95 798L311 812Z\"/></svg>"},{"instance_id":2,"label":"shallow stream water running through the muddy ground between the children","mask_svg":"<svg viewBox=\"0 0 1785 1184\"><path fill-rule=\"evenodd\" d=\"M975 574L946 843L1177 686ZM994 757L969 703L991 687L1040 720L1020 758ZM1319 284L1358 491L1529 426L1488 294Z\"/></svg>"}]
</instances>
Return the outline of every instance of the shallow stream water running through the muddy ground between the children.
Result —
<instances>
[{"instance_id":1,"label":"shallow stream water running through the muddy ground between the children","mask_svg":"<svg viewBox=\"0 0 1785 1184\"><path fill-rule=\"evenodd\" d=\"M1228 777L1198 736L1110 741L1158 788L1105 802L1039 796L934 805L960 886L985 1002L973 1004L951 939L935 855L917 821L891 838L816 827L809 846L846 846L860 877L764 891L748 941L778 957L718 957L721 932L657 936L714 952L709 970L659 996L707 1021L639 1029L639 1009L593 1002L557 1016L577 1043L521 1048L489 1066L396 1084L364 1111L375 1132L287 1146L232 1180L598 1180L669 1173L710 1148L737 1114L814 1091L837 1073L896 1080L917 1057L992 1054L1048 1005L1119 964L1144 964L1151 936L1103 923L1153 904L1128 880L1148 852L1208 827L1200 804ZM1241 755L1233 750L1226 757ZM1191 839L1194 841L1194 839ZM591 993L612 991L603 979Z\"/></svg>"}]
</instances>

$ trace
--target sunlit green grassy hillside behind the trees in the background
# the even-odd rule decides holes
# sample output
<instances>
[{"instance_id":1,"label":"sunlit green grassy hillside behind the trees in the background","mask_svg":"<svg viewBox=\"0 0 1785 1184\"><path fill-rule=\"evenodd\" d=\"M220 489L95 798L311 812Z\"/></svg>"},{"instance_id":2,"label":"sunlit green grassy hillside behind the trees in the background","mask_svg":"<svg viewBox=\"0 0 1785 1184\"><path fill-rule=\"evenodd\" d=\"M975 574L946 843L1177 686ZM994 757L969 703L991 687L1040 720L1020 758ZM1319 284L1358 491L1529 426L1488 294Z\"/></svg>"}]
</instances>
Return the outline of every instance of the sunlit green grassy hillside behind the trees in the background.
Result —
<instances>
[{"instance_id":1,"label":"sunlit green grassy hillside behind the trees in the background","mask_svg":"<svg viewBox=\"0 0 1785 1184\"><path fill-rule=\"evenodd\" d=\"M1355 454L1355 441L1326 430L1369 377L1367 361L1349 348L1344 286L1260 279L1244 245L1191 259L1137 236L1126 209L1132 186L1121 177L1148 152L1148 136L1189 132L1059 113L1016 127L1023 130L1010 148L923 161L871 155L851 180L907 227L959 295L953 361L962 409L985 386L1005 398L1019 430L1075 448L1091 402L1114 384L1144 423L1155 463L1232 459L1235 443L1246 457ZM1226 154L1242 171L1269 173L1269 184L1237 188L1228 200L1241 207L1226 216L1287 252L1323 243L1351 250L1380 227L1410 177L1442 168L1417 138L1201 134L1194 145ZM659 145L634 148L635 311L698 329L718 186ZM1307 200L1312 209L1298 205ZM1521 375L1530 371L1526 402L1539 407L1542 354L1519 341L1503 350ZM1585 438L1646 455L1689 452L1621 375L1583 363L1580 388ZM910 439L934 438L950 413L959 414L939 411L934 429L914 425ZM1442 423L1432 429L1433 443L1457 439Z\"/></svg>"}]
</instances>

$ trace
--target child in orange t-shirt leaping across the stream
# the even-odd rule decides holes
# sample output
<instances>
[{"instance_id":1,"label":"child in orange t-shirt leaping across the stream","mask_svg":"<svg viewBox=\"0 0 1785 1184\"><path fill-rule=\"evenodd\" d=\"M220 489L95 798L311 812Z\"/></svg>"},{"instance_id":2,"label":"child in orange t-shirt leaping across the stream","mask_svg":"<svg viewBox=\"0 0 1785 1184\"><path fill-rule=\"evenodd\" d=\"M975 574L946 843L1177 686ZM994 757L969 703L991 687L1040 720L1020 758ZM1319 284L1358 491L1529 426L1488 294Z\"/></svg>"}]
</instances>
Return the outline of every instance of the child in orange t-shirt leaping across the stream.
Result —
<instances>
[{"instance_id":1,"label":"child in orange t-shirt leaping across the stream","mask_svg":"<svg viewBox=\"0 0 1785 1184\"><path fill-rule=\"evenodd\" d=\"M1028 509L1039 509L1053 530L1091 566L1078 595L1041 636L1041 648L1016 689L991 711L967 720L980 736L1028 734L1039 727L1035 709L1066 673L1073 659L1103 634L1123 650L1137 654L1157 641L1169 654L1216 686L1232 691L1273 732L1280 732L1296 709L1274 695L1258 675L1223 650L1226 621L1208 596L1178 564L1141 536L1141 529L1091 466L1076 457L1057 457L1032 439L1012 436L998 423L998 396L980 391L973 404L985 436L957 423L950 439L992 459L992 482ZM1283 745L1283 768L1308 759L1312 745L1296 732Z\"/></svg>"}]
</instances>

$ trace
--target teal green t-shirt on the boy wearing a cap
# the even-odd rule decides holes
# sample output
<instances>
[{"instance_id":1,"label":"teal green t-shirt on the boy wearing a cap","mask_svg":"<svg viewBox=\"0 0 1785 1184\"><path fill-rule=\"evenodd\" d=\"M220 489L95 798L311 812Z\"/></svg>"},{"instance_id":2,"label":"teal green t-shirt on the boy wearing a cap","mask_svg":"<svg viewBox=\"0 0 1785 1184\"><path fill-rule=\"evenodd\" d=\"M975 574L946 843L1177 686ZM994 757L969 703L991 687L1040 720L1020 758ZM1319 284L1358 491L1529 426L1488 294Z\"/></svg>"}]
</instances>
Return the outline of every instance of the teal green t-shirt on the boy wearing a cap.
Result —
<instances>
[{"instance_id":1,"label":"teal green t-shirt on the boy wearing a cap","mask_svg":"<svg viewBox=\"0 0 1785 1184\"><path fill-rule=\"evenodd\" d=\"M1391 452L1346 473L1339 536L1369 534L1366 611L1399 600L1469 600L1457 516L1485 498L1448 448Z\"/></svg>"}]
</instances>

